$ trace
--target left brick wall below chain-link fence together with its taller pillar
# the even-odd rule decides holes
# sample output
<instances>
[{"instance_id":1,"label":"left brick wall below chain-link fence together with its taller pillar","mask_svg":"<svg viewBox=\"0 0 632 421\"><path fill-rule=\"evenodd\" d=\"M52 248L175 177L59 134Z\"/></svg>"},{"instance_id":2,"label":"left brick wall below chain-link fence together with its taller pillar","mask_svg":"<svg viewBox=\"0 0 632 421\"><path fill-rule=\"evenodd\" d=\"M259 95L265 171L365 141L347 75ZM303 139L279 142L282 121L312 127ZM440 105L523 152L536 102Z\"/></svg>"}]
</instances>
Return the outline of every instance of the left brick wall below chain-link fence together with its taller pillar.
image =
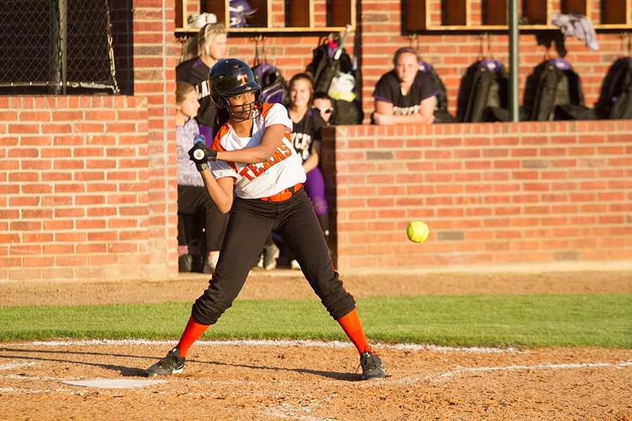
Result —
<instances>
[{"instance_id":1,"label":"left brick wall below chain-link fence together with its taller pillar","mask_svg":"<svg viewBox=\"0 0 632 421\"><path fill-rule=\"evenodd\" d=\"M0 96L0 281L177 273L173 0L110 5L133 96Z\"/></svg>"}]
</instances>

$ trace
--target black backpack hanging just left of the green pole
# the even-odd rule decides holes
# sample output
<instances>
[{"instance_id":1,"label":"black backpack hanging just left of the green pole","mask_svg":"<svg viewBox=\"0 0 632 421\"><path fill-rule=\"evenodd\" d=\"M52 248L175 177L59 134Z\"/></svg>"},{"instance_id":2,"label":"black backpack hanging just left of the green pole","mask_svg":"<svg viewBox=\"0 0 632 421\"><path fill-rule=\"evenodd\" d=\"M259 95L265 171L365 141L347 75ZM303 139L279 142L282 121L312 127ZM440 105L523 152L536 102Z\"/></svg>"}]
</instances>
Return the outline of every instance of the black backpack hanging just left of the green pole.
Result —
<instances>
[{"instance_id":1,"label":"black backpack hanging just left of the green pole","mask_svg":"<svg viewBox=\"0 0 632 421\"><path fill-rule=\"evenodd\" d=\"M459 121L508 120L508 76L498 60L478 60L461 79L457 116Z\"/></svg>"}]
</instances>

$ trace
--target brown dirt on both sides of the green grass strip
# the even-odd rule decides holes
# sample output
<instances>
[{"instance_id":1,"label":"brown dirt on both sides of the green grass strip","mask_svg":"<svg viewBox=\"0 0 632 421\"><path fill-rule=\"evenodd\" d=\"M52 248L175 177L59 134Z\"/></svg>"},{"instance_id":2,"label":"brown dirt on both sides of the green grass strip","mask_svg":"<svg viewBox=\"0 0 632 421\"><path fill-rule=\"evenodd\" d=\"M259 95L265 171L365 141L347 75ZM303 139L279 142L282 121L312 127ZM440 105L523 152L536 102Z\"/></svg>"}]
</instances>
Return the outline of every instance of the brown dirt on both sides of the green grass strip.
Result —
<instances>
[{"instance_id":1,"label":"brown dirt on both sides of the green grass strip","mask_svg":"<svg viewBox=\"0 0 632 421\"><path fill-rule=\"evenodd\" d=\"M356 297L630 293L629 272L346 276ZM271 287L272 285L272 287ZM4 305L193 300L205 276L165 283L0 285ZM312 296L298 272L256 272L241 298ZM186 315L183 315L183 323ZM632 420L631 349L378 345L388 377L362 382L339 342L199 342L183 375L141 389L65 380L138 379L175 342L0 343L8 420Z\"/></svg>"}]
</instances>

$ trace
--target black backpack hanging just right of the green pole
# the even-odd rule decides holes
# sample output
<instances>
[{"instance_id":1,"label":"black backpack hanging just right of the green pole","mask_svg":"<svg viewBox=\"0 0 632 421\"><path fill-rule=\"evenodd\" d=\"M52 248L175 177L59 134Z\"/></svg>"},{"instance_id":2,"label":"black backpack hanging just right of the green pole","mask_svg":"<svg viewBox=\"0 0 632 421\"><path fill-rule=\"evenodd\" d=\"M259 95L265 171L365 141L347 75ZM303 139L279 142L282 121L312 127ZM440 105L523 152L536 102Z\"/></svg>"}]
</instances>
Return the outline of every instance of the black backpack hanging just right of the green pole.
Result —
<instances>
[{"instance_id":1,"label":"black backpack hanging just right of the green pole","mask_svg":"<svg viewBox=\"0 0 632 421\"><path fill-rule=\"evenodd\" d=\"M521 120L534 121L594 118L584 107L579 75L562 58L541 62L527 77L521 114Z\"/></svg>"}]
</instances>

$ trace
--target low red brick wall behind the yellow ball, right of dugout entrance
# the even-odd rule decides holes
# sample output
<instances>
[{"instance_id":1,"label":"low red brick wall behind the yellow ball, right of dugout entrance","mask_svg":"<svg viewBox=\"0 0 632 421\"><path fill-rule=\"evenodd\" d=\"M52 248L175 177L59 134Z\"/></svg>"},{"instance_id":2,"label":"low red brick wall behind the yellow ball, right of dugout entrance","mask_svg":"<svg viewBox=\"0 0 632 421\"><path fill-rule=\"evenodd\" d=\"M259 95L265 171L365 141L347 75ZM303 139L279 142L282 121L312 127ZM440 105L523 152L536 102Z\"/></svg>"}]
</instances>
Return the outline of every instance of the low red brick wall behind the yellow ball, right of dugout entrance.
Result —
<instances>
[{"instance_id":1,"label":"low red brick wall behind the yellow ball, right of dugout entrance","mask_svg":"<svg viewBox=\"0 0 632 421\"><path fill-rule=\"evenodd\" d=\"M630 262L630 133L632 121L332 128L338 268ZM407 240L410 220L428 224L426 242Z\"/></svg>"}]
</instances>

